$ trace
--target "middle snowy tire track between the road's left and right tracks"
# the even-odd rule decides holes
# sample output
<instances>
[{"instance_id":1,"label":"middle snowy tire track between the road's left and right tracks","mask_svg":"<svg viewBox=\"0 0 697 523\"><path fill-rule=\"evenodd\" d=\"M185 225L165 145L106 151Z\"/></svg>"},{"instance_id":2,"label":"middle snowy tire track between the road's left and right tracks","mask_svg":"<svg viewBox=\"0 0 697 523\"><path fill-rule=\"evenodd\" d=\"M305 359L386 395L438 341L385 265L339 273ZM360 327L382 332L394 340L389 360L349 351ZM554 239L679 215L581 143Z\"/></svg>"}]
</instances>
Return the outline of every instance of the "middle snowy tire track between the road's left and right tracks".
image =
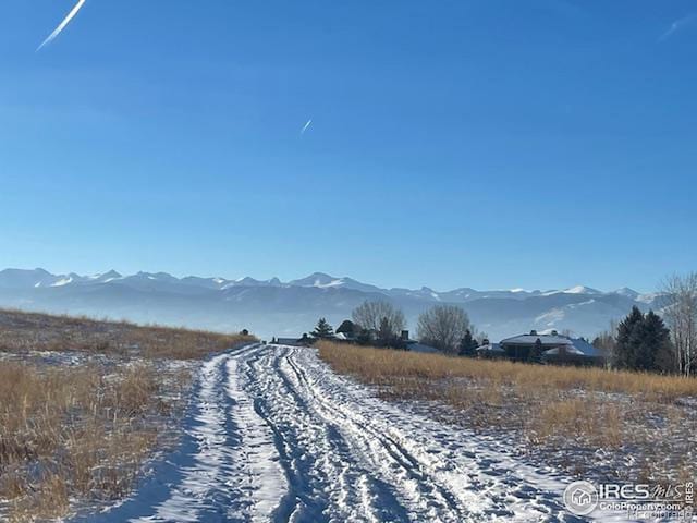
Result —
<instances>
[{"instance_id":1,"label":"middle snowy tire track between the road's left and right tracks","mask_svg":"<svg viewBox=\"0 0 697 523\"><path fill-rule=\"evenodd\" d=\"M280 372L285 351L248 362L258 386L258 412L277 434L291 485L277 521L404 521L405 512L387 485L356 462L334 427L314 414Z\"/></svg>"}]
</instances>

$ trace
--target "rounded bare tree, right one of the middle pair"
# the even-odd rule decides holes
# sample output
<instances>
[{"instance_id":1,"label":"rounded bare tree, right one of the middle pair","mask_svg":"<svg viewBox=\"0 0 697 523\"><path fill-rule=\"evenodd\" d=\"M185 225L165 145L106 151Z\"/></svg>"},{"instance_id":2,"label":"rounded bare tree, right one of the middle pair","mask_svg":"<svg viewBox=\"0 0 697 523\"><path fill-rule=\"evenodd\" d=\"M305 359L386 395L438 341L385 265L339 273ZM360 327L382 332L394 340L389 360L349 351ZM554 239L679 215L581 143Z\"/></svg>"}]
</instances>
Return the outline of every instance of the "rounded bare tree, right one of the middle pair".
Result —
<instances>
[{"instance_id":1,"label":"rounded bare tree, right one of the middle pair","mask_svg":"<svg viewBox=\"0 0 697 523\"><path fill-rule=\"evenodd\" d=\"M457 353L468 329L467 313L454 305L436 305L418 317L419 340L449 354Z\"/></svg>"}]
</instances>

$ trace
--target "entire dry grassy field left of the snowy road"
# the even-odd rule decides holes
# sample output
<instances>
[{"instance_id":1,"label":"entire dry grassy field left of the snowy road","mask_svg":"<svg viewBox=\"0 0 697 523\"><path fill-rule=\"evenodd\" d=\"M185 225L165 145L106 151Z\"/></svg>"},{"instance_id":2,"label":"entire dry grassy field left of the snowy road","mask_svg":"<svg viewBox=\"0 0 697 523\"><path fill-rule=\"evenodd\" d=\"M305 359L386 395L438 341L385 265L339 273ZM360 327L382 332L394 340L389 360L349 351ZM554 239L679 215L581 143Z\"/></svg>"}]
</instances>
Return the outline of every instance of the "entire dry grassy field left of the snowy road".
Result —
<instances>
[{"instance_id":1,"label":"entire dry grassy field left of the snowy road","mask_svg":"<svg viewBox=\"0 0 697 523\"><path fill-rule=\"evenodd\" d=\"M195 360L249 340L0 311L0 521L127 495L176 441Z\"/></svg>"}]
</instances>

